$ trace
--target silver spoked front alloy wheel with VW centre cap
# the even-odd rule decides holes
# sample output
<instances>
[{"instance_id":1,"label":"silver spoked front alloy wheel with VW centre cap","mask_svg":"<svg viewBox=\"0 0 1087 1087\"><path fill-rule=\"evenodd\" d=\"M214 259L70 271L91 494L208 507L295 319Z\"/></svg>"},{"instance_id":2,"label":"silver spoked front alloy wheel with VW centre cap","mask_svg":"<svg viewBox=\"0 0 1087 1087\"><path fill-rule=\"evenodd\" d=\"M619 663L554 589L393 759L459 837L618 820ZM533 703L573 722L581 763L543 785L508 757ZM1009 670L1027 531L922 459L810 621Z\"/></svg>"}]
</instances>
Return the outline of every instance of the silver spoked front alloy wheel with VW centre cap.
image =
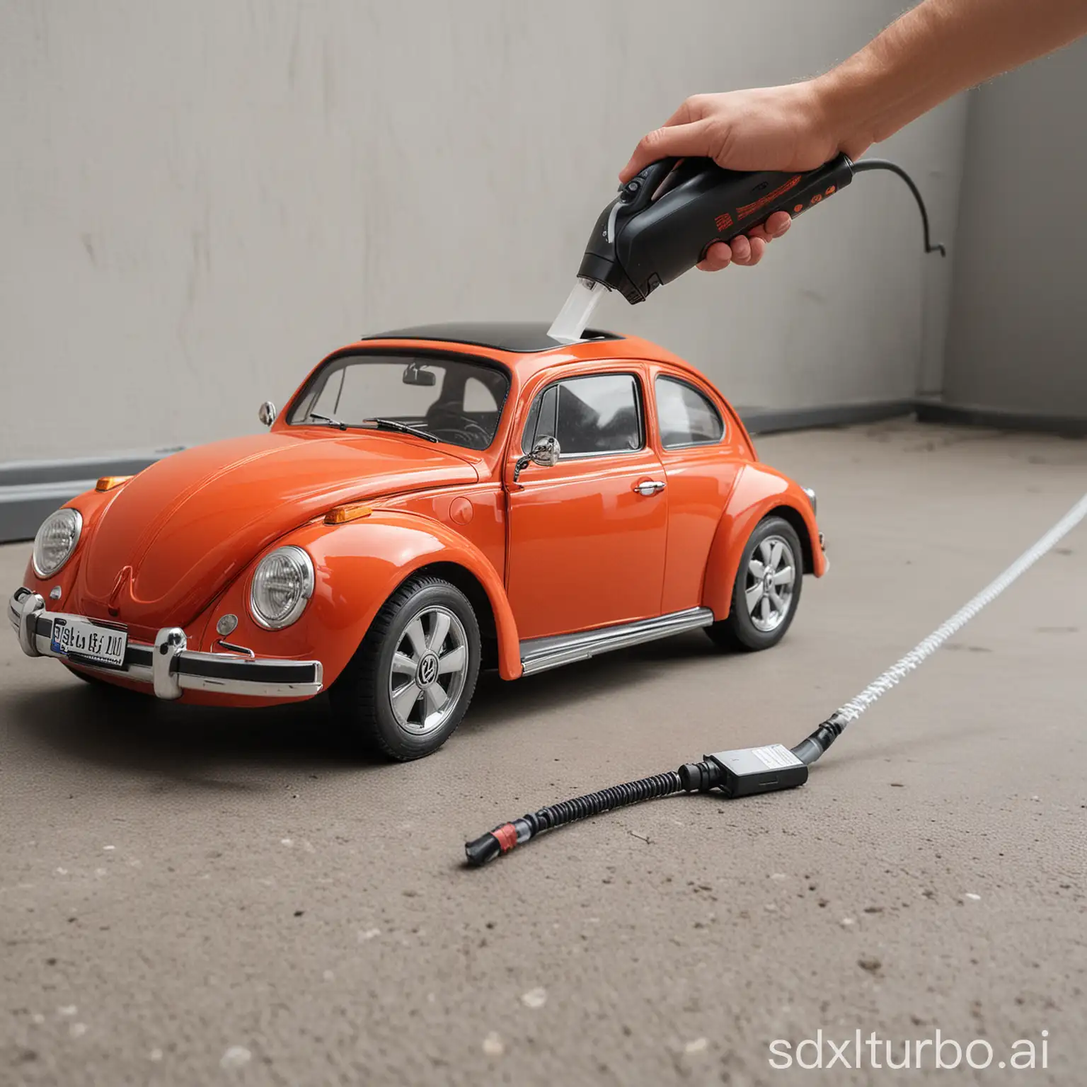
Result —
<instances>
[{"instance_id":1,"label":"silver spoked front alloy wheel with VW centre cap","mask_svg":"<svg viewBox=\"0 0 1087 1087\"><path fill-rule=\"evenodd\" d=\"M440 604L424 608L392 654L389 701L397 724L412 736L440 728L457 708L467 674L464 624Z\"/></svg>"}]
</instances>

